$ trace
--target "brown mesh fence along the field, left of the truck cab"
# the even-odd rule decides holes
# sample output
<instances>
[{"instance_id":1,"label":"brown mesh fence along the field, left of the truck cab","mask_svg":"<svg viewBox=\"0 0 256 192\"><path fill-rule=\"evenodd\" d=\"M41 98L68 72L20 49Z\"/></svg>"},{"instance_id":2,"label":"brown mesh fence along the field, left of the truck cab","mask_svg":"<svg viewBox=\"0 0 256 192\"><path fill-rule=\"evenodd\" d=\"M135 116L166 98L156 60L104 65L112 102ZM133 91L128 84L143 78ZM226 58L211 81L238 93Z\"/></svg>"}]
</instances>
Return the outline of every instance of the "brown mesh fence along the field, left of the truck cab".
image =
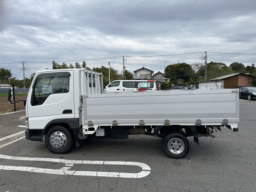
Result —
<instances>
[{"instance_id":1,"label":"brown mesh fence along the field, left of the truck cab","mask_svg":"<svg viewBox=\"0 0 256 192\"><path fill-rule=\"evenodd\" d=\"M25 93L23 88L14 88L15 101L26 99L28 96L29 88L25 88ZM11 104L7 102L9 88L0 88L0 114L14 112L18 110L24 110L24 102L17 102ZM14 101L13 101L14 102Z\"/></svg>"}]
</instances>

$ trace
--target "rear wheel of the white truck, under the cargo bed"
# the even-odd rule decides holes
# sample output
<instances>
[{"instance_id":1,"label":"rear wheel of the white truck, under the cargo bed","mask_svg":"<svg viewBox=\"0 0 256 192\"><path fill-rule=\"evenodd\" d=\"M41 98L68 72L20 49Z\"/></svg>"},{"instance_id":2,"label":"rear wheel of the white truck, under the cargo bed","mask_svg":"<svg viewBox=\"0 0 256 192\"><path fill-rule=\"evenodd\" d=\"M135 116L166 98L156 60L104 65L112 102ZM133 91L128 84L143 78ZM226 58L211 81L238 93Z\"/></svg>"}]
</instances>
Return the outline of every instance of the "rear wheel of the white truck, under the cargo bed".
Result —
<instances>
[{"instance_id":1,"label":"rear wheel of the white truck, under the cargo bed","mask_svg":"<svg viewBox=\"0 0 256 192\"><path fill-rule=\"evenodd\" d=\"M180 159L189 151L188 139L179 132L172 132L163 138L163 149L170 158Z\"/></svg>"}]
</instances>

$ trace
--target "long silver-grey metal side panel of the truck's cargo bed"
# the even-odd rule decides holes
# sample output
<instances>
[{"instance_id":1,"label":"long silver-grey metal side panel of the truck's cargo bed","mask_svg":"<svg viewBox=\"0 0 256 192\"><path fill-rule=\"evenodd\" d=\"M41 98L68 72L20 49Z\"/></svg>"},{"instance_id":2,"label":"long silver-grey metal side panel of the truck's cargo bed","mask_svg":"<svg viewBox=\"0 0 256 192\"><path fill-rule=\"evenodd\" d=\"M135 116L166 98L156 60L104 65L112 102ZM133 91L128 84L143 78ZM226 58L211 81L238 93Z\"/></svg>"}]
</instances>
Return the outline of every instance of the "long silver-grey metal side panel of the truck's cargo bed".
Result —
<instances>
[{"instance_id":1,"label":"long silver-grey metal side panel of the truck's cargo bed","mask_svg":"<svg viewBox=\"0 0 256 192\"><path fill-rule=\"evenodd\" d=\"M238 89L83 95L84 126L230 125L239 122ZM90 131L84 132L90 134Z\"/></svg>"}]
</instances>

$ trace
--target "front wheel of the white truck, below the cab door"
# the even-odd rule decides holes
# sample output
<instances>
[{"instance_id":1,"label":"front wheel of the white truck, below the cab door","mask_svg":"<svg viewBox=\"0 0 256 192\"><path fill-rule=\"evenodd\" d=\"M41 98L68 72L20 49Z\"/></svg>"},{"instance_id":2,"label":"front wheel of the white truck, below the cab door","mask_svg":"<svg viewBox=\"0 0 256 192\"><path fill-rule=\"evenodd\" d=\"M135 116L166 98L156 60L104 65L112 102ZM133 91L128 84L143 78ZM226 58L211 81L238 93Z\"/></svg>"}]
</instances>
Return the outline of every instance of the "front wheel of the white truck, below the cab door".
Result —
<instances>
[{"instance_id":1,"label":"front wheel of the white truck, below the cab door","mask_svg":"<svg viewBox=\"0 0 256 192\"><path fill-rule=\"evenodd\" d=\"M53 153L67 153L73 146L73 138L68 129L62 126L54 126L46 133L46 147Z\"/></svg>"}]
</instances>

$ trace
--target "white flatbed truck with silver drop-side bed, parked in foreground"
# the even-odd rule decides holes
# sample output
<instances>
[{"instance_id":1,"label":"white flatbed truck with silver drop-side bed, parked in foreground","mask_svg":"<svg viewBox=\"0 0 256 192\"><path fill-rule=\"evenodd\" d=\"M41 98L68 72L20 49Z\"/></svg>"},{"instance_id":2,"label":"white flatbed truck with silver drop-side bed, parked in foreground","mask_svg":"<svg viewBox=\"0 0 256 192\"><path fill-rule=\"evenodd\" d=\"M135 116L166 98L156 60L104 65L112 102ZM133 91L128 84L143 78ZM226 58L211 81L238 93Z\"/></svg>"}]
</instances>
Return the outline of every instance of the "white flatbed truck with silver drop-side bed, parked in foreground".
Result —
<instances>
[{"instance_id":1,"label":"white flatbed truck with silver drop-side bed, parked in foreground","mask_svg":"<svg viewBox=\"0 0 256 192\"><path fill-rule=\"evenodd\" d=\"M167 90L104 94L102 74L85 69L35 74L26 100L26 138L53 153L68 152L88 137L162 138L164 152L182 158L187 137L211 136L226 126L238 131L239 90Z\"/></svg>"}]
</instances>

